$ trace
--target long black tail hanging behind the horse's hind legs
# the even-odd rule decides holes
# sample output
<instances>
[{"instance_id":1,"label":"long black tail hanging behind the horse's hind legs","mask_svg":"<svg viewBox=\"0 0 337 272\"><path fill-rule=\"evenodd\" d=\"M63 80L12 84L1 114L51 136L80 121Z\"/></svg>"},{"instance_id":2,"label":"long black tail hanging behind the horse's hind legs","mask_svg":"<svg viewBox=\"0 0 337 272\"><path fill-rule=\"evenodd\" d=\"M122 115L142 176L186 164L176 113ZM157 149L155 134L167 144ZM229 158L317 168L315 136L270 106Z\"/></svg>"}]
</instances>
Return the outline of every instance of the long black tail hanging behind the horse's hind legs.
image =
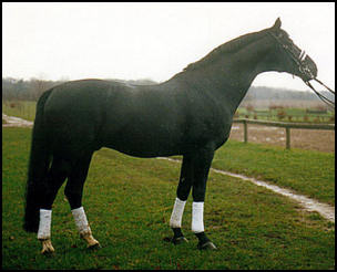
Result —
<instances>
[{"instance_id":1,"label":"long black tail hanging behind the horse's hind legs","mask_svg":"<svg viewBox=\"0 0 337 272\"><path fill-rule=\"evenodd\" d=\"M39 229L41 199L52 155L48 145L43 116L44 104L51 92L52 90L44 92L38 101L32 130L23 222L23 229L29 232L38 232Z\"/></svg>"}]
</instances>

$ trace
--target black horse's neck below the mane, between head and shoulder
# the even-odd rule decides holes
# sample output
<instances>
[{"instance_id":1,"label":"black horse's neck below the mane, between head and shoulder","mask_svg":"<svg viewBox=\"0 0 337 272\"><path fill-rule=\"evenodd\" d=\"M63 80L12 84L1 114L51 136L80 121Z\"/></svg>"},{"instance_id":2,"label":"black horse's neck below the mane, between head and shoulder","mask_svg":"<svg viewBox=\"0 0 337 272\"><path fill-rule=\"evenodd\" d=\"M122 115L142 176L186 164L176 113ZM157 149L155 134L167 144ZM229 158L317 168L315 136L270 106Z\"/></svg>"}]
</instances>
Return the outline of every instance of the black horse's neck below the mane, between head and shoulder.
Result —
<instances>
[{"instance_id":1,"label":"black horse's neck below the mane, between head and shoulder","mask_svg":"<svg viewBox=\"0 0 337 272\"><path fill-rule=\"evenodd\" d=\"M186 71L181 77L211 93L234 114L254 79L266 71L265 51L264 46L251 45L205 67Z\"/></svg>"}]
</instances>

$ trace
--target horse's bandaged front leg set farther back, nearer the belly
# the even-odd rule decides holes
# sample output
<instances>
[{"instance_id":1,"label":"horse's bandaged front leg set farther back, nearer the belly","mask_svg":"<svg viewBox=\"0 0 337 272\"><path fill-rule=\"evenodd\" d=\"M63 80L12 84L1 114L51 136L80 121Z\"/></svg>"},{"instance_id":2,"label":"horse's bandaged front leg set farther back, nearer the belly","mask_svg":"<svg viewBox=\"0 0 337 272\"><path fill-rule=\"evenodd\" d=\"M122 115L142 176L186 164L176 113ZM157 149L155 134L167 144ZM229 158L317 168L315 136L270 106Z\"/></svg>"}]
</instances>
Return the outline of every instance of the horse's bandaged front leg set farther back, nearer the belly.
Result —
<instances>
[{"instance_id":1,"label":"horse's bandaged front leg set farther back, nearer the belly","mask_svg":"<svg viewBox=\"0 0 337 272\"><path fill-rule=\"evenodd\" d=\"M182 232L182 218L193 181L193 172L191 167L191 157L188 155L185 155L183 157L180 182L176 189L176 199L170 219L170 227L174 233L172 238L172 242L174 244L187 241Z\"/></svg>"}]
</instances>

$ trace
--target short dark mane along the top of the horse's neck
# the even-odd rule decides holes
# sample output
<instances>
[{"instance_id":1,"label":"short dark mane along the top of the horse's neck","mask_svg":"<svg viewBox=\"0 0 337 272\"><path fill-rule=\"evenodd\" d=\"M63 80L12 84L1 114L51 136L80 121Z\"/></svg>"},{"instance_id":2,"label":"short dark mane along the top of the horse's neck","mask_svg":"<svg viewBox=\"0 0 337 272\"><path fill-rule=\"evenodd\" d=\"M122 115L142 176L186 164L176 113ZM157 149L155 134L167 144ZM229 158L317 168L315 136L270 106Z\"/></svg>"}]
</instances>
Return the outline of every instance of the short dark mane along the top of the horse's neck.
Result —
<instances>
[{"instance_id":1,"label":"short dark mane along the top of the horse's neck","mask_svg":"<svg viewBox=\"0 0 337 272\"><path fill-rule=\"evenodd\" d=\"M238 50L243 49L244 46L248 45L249 43L253 43L256 40L264 36L266 34L266 31L268 31L268 30L253 32L253 33L248 33L248 34L244 34L238 38L235 38L235 39L215 48L213 51L211 51L206 56L204 56L200 61L188 64L184 69L184 71L191 71L191 70L195 70L195 69L202 67L204 65L207 65L207 64L212 63L214 60L216 60L218 57L218 55L235 53Z\"/></svg>"}]
</instances>

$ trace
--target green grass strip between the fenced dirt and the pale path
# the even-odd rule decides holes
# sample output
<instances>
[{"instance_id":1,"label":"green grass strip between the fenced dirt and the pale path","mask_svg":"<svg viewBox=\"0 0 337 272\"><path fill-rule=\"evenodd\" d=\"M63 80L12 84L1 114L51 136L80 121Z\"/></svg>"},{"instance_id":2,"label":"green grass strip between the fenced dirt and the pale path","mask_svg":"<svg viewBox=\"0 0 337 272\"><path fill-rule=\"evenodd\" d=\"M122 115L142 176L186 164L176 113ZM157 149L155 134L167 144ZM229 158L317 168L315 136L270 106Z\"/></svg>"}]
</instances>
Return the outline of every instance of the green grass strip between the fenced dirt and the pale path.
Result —
<instances>
[{"instance_id":1,"label":"green grass strip between the fenced dirt and the pale path","mask_svg":"<svg viewBox=\"0 0 337 272\"><path fill-rule=\"evenodd\" d=\"M335 154L229 140L216 151L212 166L335 206Z\"/></svg>"}]
</instances>

